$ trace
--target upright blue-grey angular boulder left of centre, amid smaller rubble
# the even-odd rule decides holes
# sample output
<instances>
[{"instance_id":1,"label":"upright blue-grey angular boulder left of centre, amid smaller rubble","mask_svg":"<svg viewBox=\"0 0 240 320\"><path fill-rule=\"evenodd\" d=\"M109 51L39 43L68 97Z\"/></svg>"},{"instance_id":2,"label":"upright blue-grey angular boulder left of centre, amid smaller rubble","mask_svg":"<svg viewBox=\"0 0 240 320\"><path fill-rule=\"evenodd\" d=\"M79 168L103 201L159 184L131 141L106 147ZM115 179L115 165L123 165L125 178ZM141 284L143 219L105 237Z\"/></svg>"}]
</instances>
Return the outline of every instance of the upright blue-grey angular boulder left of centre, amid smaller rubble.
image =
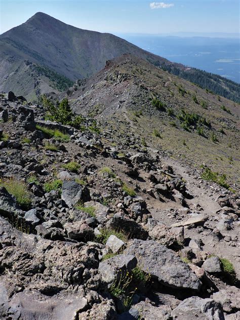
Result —
<instances>
[{"instance_id":1,"label":"upright blue-grey angular boulder left of centre, amid smaller rubble","mask_svg":"<svg viewBox=\"0 0 240 320\"><path fill-rule=\"evenodd\" d=\"M75 181L63 181L61 198L68 207L73 207L82 199L83 187Z\"/></svg>"}]
</instances>

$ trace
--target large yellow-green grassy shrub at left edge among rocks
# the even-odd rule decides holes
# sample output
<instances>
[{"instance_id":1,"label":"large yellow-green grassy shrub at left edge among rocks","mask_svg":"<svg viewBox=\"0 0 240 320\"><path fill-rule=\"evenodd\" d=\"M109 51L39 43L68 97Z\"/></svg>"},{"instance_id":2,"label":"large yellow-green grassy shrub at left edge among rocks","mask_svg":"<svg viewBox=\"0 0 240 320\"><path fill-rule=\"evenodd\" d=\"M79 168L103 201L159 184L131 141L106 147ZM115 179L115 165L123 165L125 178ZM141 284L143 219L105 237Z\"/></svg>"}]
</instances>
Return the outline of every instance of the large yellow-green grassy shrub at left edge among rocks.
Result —
<instances>
[{"instance_id":1,"label":"large yellow-green grassy shrub at left edge among rocks","mask_svg":"<svg viewBox=\"0 0 240 320\"><path fill-rule=\"evenodd\" d=\"M0 180L0 186L5 187L15 196L17 203L23 210L28 210L32 203L32 194L27 190L27 185L16 179Z\"/></svg>"}]
</instances>

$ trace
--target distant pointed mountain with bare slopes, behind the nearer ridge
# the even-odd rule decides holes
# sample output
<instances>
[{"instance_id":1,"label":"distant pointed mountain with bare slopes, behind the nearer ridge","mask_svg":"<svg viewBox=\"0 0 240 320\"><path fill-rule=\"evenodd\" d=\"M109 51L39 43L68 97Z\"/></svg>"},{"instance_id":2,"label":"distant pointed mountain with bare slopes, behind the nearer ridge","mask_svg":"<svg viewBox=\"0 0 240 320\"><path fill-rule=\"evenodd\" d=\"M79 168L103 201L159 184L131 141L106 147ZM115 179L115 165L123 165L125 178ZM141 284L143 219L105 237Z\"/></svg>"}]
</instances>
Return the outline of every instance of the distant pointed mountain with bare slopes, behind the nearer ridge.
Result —
<instances>
[{"instance_id":1,"label":"distant pointed mountain with bare slopes, behind the nearer ridge","mask_svg":"<svg viewBox=\"0 0 240 320\"><path fill-rule=\"evenodd\" d=\"M78 29L41 12L0 35L0 91L24 93L28 99L61 91L69 81L93 75L106 60L124 53L240 101L240 86L227 79L172 63L112 34ZM42 67L49 72L39 71ZM53 72L57 73L55 77Z\"/></svg>"}]
</instances>

